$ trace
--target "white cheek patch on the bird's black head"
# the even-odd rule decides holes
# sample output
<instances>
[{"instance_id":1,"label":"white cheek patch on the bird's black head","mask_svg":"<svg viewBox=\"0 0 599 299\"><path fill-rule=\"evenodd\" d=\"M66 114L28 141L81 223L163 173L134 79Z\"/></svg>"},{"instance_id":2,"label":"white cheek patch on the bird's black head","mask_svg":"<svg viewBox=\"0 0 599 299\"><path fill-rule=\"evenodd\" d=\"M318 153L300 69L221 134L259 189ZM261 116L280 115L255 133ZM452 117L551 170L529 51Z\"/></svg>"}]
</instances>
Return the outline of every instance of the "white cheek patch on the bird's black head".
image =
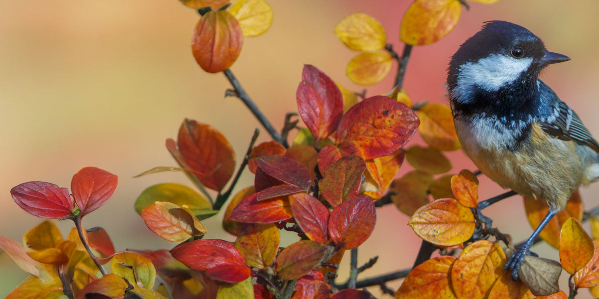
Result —
<instances>
[{"instance_id":1,"label":"white cheek patch on the bird's black head","mask_svg":"<svg viewBox=\"0 0 599 299\"><path fill-rule=\"evenodd\" d=\"M502 54L492 54L476 62L465 63L459 68L458 84L451 95L458 102L470 102L474 86L486 91L497 91L518 79L531 63L532 58L515 59Z\"/></svg>"}]
</instances>

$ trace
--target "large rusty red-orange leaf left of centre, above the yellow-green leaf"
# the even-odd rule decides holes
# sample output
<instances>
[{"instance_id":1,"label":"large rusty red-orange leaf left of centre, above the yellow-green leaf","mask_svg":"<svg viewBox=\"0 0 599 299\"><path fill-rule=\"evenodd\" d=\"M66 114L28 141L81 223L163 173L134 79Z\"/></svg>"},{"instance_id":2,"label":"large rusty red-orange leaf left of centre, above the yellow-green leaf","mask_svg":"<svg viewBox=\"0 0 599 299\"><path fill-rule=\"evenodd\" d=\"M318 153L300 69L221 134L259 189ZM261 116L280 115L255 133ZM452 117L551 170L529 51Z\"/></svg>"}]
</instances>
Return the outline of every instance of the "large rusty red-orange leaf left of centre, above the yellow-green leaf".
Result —
<instances>
[{"instance_id":1,"label":"large rusty red-orange leaf left of centre, above the yellow-green leaf","mask_svg":"<svg viewBox=\"0 0 599 299\"><path fill-rule=\"evenodd\" d=\"M225 136L210 125L185 119L179 129L177 146L187 167L206 188L220 191L233 175L235 152Z\"/></svg>"}]
</instances>

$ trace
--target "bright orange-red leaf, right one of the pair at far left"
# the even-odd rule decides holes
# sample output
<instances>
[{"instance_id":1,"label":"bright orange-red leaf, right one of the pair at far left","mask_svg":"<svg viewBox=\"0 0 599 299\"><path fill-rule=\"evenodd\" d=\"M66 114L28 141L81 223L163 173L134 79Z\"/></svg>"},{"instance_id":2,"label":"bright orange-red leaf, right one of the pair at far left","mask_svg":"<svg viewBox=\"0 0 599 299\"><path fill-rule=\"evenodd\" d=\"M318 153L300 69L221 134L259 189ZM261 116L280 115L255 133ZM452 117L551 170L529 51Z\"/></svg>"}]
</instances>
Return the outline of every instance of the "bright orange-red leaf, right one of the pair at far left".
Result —
<instances>
[{"instance_id":1,"label":"bright orange-red leaf, right one of the pair at far left","mask_svg":"<svg viewBox=\"0 0 599 299\"><path fill-rule=\"evenodd\" d=\"M84 167L73 176L71 192L81 215L100 208L114 194L119 178L106 170Z\"/></svg>"}]
</instances>

